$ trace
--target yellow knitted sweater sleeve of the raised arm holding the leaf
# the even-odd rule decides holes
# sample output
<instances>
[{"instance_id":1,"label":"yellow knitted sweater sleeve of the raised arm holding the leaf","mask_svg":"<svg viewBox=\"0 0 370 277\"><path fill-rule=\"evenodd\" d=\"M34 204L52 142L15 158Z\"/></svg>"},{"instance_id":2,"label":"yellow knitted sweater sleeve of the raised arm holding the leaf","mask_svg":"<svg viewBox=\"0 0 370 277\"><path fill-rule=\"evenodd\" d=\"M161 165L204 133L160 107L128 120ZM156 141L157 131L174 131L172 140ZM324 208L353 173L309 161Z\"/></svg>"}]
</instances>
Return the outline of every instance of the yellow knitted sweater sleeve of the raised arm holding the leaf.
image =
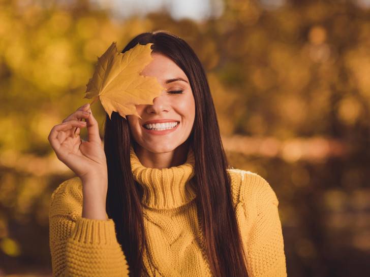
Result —
<instances>
[{"instance_id":1,"label":"yellow knitted sweater sleeve of the raised arm holding the leaf","mask_svg":"<svg viewBox=\"0 0 370 277\"><path fill-rule=\"evenodd\" d=\"M78 198L75 180L60 184L51 196L52 275L129 276L126 257L116 239L114 221L81 217L82 199Z\"/></svg>"}]
</instances>

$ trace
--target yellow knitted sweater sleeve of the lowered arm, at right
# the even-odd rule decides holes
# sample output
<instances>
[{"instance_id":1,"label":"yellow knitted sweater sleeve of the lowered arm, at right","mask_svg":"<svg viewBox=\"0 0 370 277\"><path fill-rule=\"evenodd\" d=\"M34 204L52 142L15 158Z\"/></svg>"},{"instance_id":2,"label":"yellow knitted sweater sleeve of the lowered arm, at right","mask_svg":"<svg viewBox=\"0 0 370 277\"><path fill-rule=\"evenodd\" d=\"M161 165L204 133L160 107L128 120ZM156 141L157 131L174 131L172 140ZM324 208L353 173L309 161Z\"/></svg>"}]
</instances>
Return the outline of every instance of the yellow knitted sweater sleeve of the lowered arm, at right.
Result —
<instances>
[{"instance_id":1,"label":"yellow knitted sweater sleeve of the lowered arm, at right","mask_svg":"<svg viewBox=\"0 0 370 277\"><path fill-rule=\"evenodd\" d=\"M250 174L252 189L244 199L254 202L255 220L247 238L247 266L252 277L285 277L286 257L276 194L265 179ZM252 180L251 180L252 179ZM244 205L244 207L247 205ZM246 212L246 211L245 211Z\"/></svg>"}]
</instances>

